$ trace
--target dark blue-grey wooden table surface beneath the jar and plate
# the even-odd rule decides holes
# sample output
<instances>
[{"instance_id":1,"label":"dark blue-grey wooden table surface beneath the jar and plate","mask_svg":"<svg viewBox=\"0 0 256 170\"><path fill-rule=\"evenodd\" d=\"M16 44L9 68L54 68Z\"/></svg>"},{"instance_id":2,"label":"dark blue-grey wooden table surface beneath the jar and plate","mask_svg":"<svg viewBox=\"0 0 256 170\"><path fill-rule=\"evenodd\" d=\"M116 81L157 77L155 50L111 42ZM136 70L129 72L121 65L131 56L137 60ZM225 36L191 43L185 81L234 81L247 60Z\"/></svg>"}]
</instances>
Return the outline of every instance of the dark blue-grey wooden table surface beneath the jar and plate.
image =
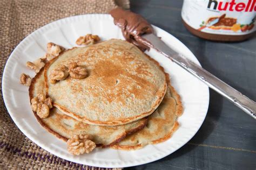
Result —
<instances>
[{"instance_id":1,"label":"dark blue-grey wooden table surface beneath the jar and plate","mask_svg":"<svg viewBox=\"0 0 256 170\"><path fill-rule=\"evenodd\" d=\"M256 101L256 36L244 42L200 39L181 23L181 0L132 0L131 10L177 37L203 68ZM126 169L256 169L256 121L210 89L197 134L178 151Z\"/></svg>"}]
</instances>

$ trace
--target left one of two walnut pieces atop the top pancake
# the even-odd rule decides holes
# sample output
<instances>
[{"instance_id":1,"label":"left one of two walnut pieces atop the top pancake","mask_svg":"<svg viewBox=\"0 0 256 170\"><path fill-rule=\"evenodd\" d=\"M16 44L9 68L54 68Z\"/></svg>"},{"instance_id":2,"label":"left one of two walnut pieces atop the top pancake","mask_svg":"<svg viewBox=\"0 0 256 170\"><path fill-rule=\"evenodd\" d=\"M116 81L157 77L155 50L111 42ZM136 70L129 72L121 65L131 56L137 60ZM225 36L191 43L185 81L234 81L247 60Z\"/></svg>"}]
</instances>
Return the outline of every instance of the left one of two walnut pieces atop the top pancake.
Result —
<instances>
[{"instance_id":1,"label":"left one of two walnut pieces atop the top pancake","mask_svg":"<svg viewBox=\"0 0 256 170\"><path fill-rule=\"evenodd\" d=\"M50 83L55 84L59 80L64 80L69 76L69 69L62 65L56 69L51 70Z\"/></svg>"}]
</instances>

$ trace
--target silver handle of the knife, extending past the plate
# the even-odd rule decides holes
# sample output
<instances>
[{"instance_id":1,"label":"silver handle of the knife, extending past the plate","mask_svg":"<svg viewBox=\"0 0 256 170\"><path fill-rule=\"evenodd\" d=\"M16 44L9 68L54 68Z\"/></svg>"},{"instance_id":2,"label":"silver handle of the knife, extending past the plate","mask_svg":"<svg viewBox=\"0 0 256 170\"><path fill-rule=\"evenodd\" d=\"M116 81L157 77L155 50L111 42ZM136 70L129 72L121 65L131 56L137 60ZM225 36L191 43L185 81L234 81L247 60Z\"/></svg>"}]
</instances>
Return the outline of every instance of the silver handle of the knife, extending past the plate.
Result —
<instances>
[{"instance_id":1,"label":"silver handle of the knife, extending past the plate","mask_svg":"<svg viewBox=\"0 0 256 170\"><path fill-rule=\"evenodd\" d=\"M164 53L163 53L164 54ZM173 54L173 52L171 53ZM256 119L256 103L181 54L164 54Z\"/></svg>"}]
</instances>

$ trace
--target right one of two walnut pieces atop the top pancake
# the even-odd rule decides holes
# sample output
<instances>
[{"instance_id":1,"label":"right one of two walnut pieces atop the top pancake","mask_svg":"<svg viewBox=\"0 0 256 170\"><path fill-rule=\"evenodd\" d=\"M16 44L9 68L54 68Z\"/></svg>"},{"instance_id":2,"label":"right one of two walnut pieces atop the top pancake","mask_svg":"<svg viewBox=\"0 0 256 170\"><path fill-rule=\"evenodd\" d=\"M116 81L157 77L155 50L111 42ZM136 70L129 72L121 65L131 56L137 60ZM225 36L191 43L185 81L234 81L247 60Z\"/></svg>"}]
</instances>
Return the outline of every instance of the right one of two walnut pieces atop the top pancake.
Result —
<instances>
[{"instance_id":1,"label":"right one of two walnut pieces atop the top pancake","mask_svg":"<svg viewBox=\"0 0 256 170\"><path fill-rule=\"evenodd\" d=\"M77 62L71 62L69 63L69 74L73 79L84 79L88 72L84 66L78 66Z\"/></svg>"}]
</instances>

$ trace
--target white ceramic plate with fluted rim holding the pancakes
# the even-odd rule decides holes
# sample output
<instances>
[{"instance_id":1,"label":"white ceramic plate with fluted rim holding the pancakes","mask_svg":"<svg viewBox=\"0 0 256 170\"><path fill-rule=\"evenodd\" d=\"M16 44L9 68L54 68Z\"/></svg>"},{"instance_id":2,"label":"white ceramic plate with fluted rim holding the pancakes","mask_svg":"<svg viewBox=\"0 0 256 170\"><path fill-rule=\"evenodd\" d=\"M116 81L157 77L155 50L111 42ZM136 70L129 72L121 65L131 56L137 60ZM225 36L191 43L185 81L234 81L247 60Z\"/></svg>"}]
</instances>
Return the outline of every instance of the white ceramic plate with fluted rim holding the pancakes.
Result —
<instances>
[{"instance_id":1,"label":"white ceramic plate with fluted rim holding the pancakes","mask_svg":"<svg viewBox=\"0 0 256 170\"><path fill-rule=\"evenodd\" d=\"M192 52L171 34L154 26L158 37L177 49L187 58L198 63ZM128 167L152 162L178 150L187 143L203 123L209 103L209 90L204 83L187 73L171 60L154 50L147 52L170 74L174 88L181 96L184 113L178 118L179 129L172 138L157 145L147 145L136 151L96 148L90 154L74 156L66 150L66 143L46 131L36 121L29 102L28 87L19 84L21 73L35 76L26 68L26 61L33 61L46 52L46 44L54 42L65 48L76 46L76 39L87 33L97 34L102 40L124 39L110 15L82 15L57 20L31 33L10 55L3 73L3 98L6 108L18 128L37 145L60 158L97 167Z\"/></svg>"}]
</instances>

